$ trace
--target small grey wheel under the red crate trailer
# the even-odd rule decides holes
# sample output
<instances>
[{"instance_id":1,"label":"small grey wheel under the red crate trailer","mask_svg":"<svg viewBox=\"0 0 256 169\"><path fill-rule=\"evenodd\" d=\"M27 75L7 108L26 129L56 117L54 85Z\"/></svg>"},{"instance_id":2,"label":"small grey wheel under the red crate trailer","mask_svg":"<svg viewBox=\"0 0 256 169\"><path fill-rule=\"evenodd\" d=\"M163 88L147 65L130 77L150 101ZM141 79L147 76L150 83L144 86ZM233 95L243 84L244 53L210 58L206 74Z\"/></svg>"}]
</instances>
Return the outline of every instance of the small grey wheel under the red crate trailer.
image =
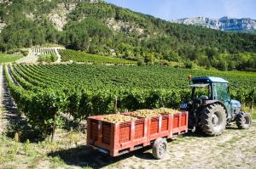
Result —
<instances>
[{"instance_id":1,"label":"small grey wheel under the red crate trailer","mask_svg":"<svg viewBox=\"0 0 256 169\"><path fill-rule=\"evenodd\" d=\"M163 159L166 156L167 142L166 138L157 138L154 141L152 154L156 159Z\"/></svg>"}]
</instances>

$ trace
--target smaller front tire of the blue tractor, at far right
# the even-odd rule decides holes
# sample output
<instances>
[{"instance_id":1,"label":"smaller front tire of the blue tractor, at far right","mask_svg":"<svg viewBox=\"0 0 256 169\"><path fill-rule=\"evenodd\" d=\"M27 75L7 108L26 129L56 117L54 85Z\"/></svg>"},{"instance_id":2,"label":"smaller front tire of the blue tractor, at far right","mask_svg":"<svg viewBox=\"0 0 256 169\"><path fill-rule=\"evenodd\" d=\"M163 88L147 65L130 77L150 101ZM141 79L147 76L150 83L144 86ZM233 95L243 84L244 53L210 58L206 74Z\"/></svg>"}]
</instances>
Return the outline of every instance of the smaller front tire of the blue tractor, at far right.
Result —
<instances>
[{"instance_id":1,"label":"smaller front tire of the blue tractor, at far right","mask_svg":"<svg viewBox=\"0 0 256 169\"><path fill-rule=\"evenodd\" d=\"M236 115L236 126L240 129L247 129L252 125L252 116L248 113L241 112Z\"/></svg>"}]
</instances>

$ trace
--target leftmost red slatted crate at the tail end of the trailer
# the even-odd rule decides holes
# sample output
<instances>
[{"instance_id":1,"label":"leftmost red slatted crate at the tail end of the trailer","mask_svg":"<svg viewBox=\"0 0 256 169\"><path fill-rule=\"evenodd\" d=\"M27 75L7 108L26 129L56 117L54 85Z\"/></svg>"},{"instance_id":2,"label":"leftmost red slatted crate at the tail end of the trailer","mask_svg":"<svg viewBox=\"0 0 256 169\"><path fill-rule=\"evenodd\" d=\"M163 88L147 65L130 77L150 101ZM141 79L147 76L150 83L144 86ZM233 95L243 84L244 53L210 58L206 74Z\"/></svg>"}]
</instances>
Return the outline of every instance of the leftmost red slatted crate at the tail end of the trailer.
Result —
<instances>
[{"instance_id":1,"label":"leftmost red slatted crate at the tail end of the trailer","mask_svg":"<svg viewBox=\"0 0 256 169\"><path fill-rule=\"evenodd\" d=\"M110 123L101 121L104 115L91 116L87 120L87 144L119 155L122 150L131 151L147 144L148 119Z\"/></svg>"}]
</instances>

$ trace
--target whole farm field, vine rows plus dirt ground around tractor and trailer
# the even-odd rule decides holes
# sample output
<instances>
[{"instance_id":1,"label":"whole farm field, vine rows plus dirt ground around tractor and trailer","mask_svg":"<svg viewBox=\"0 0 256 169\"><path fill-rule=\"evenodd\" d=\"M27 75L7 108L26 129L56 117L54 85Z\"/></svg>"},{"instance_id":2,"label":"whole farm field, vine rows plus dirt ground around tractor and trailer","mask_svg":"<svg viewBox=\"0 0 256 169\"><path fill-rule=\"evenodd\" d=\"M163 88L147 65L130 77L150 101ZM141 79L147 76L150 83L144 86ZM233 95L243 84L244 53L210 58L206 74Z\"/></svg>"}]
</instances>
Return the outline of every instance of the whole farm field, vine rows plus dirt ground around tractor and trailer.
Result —
<instances>
[{"instance_id":1,"label":"whole farm field, vine rows plus dirt ground around tractor and trailer","mask_svg":"<svg viewBox=\"0 0 256 169\"><path fill-rule=\"evenodd\" d=\"M254 123L249 130L229 127L223 135L214 138L193 134L179 137L168 144L168 154L161 161L153 159L149 148L117 158L102 155L85 146L84 132L84 119L88 115L113 112L115 99L118 99L119 110L177 108L189 96L186 86L190 73L226 78L230 81L232 95L250 105L251 97L255 97L249 95L256 86L255 73L76 64L8 65L1 70L4 74L3 103L8 103L0 114L0 132L5 133L0 138L1 168L255 167L256 148L251 144L256 141ZM8 94L14 100L9 99ZM69 121L68 115L78 121ZM44 137L49 135L53 124L55 139L51 143L49 136ZM202 154L205 156L200 161ZM223 158L219 158L219 154L224 154ZM230 162L226 163L227 159Z\"/></svg>"}]
</instances>

